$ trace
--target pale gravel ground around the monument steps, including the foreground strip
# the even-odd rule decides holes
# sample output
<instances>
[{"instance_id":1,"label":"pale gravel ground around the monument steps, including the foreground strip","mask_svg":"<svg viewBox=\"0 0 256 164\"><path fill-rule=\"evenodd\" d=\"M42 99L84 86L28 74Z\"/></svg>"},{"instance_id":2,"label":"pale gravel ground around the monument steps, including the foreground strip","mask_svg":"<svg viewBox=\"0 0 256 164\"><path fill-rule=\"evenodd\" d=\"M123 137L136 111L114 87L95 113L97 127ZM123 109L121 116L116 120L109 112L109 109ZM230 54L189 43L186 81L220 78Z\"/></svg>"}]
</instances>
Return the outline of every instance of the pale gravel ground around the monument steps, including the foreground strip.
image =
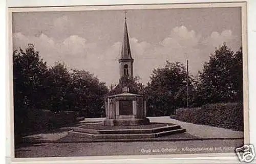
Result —
<instances>
[{"instance_id":1,"label":"pale gravel ground around the monument steps, including the foreground strip","mask_svg":"<svg viewBox=\"0 0 256 164\"><path fill-rule=\"evenodd\" d=\"M243 132L232 131L206 125L196 125L170 119L168 116L148 118L151 122L173 123L185 128L196 137L240 138ZM99 122L103 118L86 119L84 122ZM54 141L66 138L72 127L55 132L38 133L27 136L28 139ZM243 145L243 139L187 140L177 142L101 142L101 143L41 143L24 144L15 149L15 157L68 157L102 155L150 155L150 154L191 154L234 152Z\"/></svg>"}]
</instances>

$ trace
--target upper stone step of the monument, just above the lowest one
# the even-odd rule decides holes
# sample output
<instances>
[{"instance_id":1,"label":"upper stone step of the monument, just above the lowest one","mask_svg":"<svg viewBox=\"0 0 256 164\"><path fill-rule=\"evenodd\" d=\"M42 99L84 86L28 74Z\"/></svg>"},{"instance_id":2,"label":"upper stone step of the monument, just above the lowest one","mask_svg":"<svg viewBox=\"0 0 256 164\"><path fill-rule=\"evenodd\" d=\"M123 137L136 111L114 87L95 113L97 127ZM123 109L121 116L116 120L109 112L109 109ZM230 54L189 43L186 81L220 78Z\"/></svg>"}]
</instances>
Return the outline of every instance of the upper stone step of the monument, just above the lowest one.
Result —
<instances>
[{"instance_id":1,"label":"upper stone step of the monument, just above the lowest one","mask_svg":"<svg viewBox=\"0 0 256 164\"><path fill-rule=\"evenodd\" d=\"M84 132L91 134L151 134L158 133L162 131L176 130L180 129L179 125L169 125L152 129L113 129L113 130L97 130L97 129L84 129L84 128L74 128L75 132Z\"/></svg>"}]
</instances>

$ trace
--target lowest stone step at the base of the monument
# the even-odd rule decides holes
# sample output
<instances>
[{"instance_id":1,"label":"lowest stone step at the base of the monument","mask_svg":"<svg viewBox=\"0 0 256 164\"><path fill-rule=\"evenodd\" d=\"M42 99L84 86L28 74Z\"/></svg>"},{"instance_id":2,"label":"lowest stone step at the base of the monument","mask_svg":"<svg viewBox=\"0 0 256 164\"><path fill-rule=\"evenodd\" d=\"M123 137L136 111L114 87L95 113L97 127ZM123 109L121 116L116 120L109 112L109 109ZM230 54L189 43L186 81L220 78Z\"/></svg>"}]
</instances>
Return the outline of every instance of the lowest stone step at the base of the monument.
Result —
<instances>
[{"instance_id":1,"label":"lowest stone step at the base of the monument","mask_svg":"<svg viewBox=\"0 0 256 164\"><path fill-rule=\"evenodd\" d=\"M156 138L165 135L171 135L176 133L183 133L185 129L175 129L175 130L168 130L162 131L157 133L150 133L150 134L92 134L86 132L76 132L70 131L69 133L75 137L88 137L92 139L135 139L135 138Z\"/></svg>"}]
</instances>

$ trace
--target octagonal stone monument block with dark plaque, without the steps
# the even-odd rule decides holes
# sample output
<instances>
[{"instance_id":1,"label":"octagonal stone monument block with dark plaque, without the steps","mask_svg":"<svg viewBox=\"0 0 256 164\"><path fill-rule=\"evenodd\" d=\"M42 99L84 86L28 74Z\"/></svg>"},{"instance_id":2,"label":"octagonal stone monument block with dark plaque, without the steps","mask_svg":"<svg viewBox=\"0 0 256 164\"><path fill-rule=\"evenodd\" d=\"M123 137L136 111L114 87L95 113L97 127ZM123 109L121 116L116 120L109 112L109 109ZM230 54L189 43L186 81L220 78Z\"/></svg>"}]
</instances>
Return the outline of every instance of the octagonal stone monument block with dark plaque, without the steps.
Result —
<instances>
[{"instance_id":1,"label":"octagonal stone monument block with dark plaque, without the steps","mask_svg":"<svg viewBox=\"0 0 256 164\"><path fill-rule=\"evenodd\" d=\"M141 95L121 93L106 97L105 126L145 125L150 123L146 118L146 101Z\"/></svg>"}]
</instances>

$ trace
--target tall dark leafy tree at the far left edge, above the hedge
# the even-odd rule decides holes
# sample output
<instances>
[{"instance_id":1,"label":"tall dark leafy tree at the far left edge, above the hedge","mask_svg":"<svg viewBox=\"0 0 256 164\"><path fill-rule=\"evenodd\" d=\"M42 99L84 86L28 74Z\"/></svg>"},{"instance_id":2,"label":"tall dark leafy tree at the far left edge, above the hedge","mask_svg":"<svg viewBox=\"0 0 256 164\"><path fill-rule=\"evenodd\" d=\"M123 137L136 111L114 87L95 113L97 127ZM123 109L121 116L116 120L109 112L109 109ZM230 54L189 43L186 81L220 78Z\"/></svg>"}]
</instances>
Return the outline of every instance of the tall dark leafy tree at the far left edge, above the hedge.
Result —
<instances>
[{"instance_id":1,"label":"tall dark leafy tree at the far left edge, above the hedge","mask_svg":"<svg viewBox=\"0 0 256 164\"><path fill-rule=\"evenodd\" d=\"M33 44L13 52L14 106L16 108L44 108L47 65Z\"/></svg>"}]
</instances>

